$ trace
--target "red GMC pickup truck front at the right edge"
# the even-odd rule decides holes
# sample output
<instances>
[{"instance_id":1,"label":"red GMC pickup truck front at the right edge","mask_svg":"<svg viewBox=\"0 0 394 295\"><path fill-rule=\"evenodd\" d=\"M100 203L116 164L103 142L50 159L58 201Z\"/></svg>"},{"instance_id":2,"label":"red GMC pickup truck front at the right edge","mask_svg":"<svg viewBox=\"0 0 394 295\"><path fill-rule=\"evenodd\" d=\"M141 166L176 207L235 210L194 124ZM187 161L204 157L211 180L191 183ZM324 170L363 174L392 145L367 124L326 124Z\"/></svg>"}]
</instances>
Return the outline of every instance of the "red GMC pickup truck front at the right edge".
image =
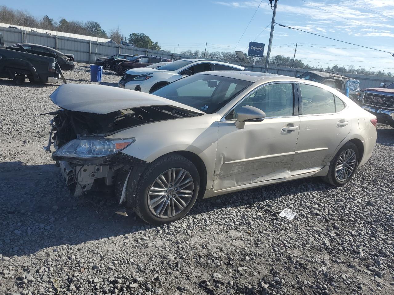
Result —
<instances>
[{"instance_id":1,"label":"red GMC pickup truck front at the right edge","mask_svg":"<svg viewBox=\"0 0 394 295\"><path fill-rule=\"evenodd\" d=\"M357 96L361 107L374 114L377 122L394 128L394 83L379 88L361 89Z\"/></svg>"}]
</instances>

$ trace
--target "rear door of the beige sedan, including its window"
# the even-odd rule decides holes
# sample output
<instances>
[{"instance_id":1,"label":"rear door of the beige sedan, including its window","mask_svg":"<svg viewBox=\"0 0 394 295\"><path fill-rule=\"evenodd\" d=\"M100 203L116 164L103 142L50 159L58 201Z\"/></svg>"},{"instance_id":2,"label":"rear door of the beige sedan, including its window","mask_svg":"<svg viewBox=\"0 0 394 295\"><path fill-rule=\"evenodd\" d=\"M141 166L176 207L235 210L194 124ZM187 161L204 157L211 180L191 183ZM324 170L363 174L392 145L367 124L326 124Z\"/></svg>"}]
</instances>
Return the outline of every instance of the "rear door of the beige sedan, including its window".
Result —
<instances>
[{"instance_id":1,"label":"rear door of the beige sedan, including its window","mask_svg":"<svg viewBox=\"0 0 394 295\"><path fill-rule=\"evenodd\" d=\"M299 83L300 126L291 174L317 171L333 157L349 134L352 116L346 104L332 92Z\"/></svg>"}]
</instances>

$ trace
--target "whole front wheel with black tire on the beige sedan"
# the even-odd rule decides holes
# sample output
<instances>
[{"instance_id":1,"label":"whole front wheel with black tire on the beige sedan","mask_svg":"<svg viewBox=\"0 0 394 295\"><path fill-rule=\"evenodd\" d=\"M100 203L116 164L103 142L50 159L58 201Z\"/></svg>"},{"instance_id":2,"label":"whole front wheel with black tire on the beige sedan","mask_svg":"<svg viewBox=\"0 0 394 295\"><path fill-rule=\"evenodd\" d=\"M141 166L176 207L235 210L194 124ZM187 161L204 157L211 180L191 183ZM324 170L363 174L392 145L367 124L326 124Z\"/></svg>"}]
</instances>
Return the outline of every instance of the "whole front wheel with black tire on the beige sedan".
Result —
<instances>
[{"instance_id":1,"label":"whole front wheel with black tire on the beige sedan","mask_svg":"<svg viewBox=\"0 0 394 295\"><path fill-rule=\"evenodd\" d=\"M185 216L199 193L200 176L194 164L177 154L155 160L142 173L136 196L127 203L144 221L156 225Z\"/></svg>"}]
</instances>

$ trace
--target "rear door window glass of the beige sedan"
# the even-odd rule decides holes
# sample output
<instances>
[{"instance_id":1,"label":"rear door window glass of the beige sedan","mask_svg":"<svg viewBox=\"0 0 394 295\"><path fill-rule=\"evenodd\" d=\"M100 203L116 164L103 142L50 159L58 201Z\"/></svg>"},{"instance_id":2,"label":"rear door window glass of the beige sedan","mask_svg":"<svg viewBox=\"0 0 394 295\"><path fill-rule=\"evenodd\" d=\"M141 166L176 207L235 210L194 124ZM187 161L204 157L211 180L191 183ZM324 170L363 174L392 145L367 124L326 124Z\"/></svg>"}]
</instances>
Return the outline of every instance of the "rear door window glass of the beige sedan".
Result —
<instances>
[{"instance_id":1,"label":"rear door window glass of the beige sedan","mask_svg":"<svg viewBox=\"0 0 394 295\"><path fill-rule=\"evenodd\" d=\"M335 112L334 94L314 85L300 84L302 114L330 114Z\"/></svg>"}]
</instances>

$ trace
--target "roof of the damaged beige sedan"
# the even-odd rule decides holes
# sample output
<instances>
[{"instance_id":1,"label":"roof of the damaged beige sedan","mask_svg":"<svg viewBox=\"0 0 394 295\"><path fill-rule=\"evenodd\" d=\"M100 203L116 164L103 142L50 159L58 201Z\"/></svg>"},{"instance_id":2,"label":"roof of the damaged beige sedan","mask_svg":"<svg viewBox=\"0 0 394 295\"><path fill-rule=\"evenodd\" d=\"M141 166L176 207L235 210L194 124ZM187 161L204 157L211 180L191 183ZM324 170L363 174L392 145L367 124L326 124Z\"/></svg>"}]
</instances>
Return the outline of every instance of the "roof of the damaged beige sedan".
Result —
<instances>
[{"instance_id":1,"label":"roof of the damaged beige sedan","mask_svg":"<svg viewBox=\"0 0 394 295\"><path fill-rule=\"evenodd\" d=\"M289 76L269 74L269 73L260 73L260 72L246 72L246 71L209 71L209 72L201 72L199 74L229 77L229 78L240 79L240 80L249 81L249 82L256 82L259 80L277 81L278 79L282 79L283 81L299 81L299 82L306 81L304 79L299 79L299 78L294 78L294 77L289 77Z\"/></svg>"}]
</instances>

